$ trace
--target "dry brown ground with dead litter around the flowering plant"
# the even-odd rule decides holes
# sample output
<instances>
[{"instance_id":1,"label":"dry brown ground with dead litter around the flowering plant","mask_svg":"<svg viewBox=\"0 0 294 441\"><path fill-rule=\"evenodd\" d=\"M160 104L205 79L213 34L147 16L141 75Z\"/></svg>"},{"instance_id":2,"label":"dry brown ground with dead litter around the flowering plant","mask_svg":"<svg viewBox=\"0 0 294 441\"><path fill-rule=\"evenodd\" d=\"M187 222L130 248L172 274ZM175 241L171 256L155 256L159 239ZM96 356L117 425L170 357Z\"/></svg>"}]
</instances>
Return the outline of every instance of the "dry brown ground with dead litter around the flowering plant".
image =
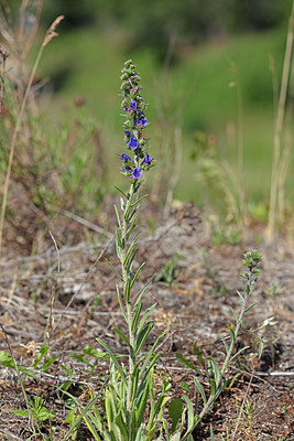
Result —
<instances>
[{"instance_id":1,"label":"dry brown ground with dead litter around the flowering plant","mask_svg":"<svg viewBox=\"0 0 294 441\"><path fill-rule=\"evenodd\" d=\"M7 236L6 257L0 260L0 314L6 332L0 332L0 351L8 352L8 338L18 362L30 367L41 345L44 342L50 345L50 356L56 356L55 363L46 374L36 368L36 378L28 378L24 385L29 398L42 396L46 407L56 415L52 421L56 440L68 430L65 422L68 409L56 388L56 384L68 379L62 365L73 370L76 389L73 386L70 391L85 402L87 384L99 390L108 369L108 362L99 359L94 373L87 375L85 365L70 354L81 354L85 346L99 349L97 337L102 337L113 352L127 354L111 330L115 325L122 331L126 327L117 300L117 279L106 261L109 259L119 269L111 232L113 213L99 214L97 224L110 226L110 233L101 228L100 234L97 225L94 232L94 225L81 226L80 219L68 216L59 214L50 225L58 254L47 232L37 230L33 239L30 228L30 246L34 244L34 252L28 256L24 233L13 244L12 230ZM151 234L148 220L154 218L156 227ZM236 440L294 439L294 259L291 243L281 238L275 248L257 247L250 239L238 246L213 246L209 232L193 205L174 209L168 220L152 205L145 205L140 220L143 227L138 266L142 261L146 265L137 292L152 282L144 304L156 302L157 306L153 311L153 336L148 344L165 331L156 380L160 383L163 375L168 375L174 397L181 397L181 381L193 385L193 372L176 361L177 353L196 363L196 343L205 355L224 359L220 336L228 334L233 323L230 308L239 311L237 290L241 292L244 288L244 280L238 276L242 271L242 254L258 248L263 256L261 275L252 293L252 302L257 304L248 312L238 342L239 348L246 345L250 348L227 373L230 386L195 431L195 440L210 439L210 424L217 440L227 439L227 431L236 432ZM268 343L258 361L258 346L252 343L249 330L272 316L276 324L264 329ZM77 386L78 381L84 381L84 391ZM9 412L25 409L21 386L15 373L4 367L0 369L0 439L6 439L4 433L28 439L31 434L28 419ZM200 408L202 401L198 406ZM41 426L50 433L47 422ZM77 439L92 438L81 427Z\"/></svg>"}]
</instances>

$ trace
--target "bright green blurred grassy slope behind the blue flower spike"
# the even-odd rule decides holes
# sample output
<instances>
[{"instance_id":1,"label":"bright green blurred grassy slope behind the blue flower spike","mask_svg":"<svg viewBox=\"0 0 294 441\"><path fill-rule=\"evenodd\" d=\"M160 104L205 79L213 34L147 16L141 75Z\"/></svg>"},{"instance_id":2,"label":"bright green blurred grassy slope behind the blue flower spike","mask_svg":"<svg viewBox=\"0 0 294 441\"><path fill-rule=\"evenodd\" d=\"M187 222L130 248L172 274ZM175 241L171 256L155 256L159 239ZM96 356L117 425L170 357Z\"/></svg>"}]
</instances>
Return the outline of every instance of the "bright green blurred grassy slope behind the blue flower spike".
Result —
<instances>
[{"instance_id":1,"label":"bright green blurred grassy slope behind the blue flower spike","mask_svg":"<svg viewBox=\"0 0 294 441\"><path fill-rule=\"evenodd\" d=\"M83 96L86 101L83 112L101 129L105 154L115 176L119 166L116 153L123 149L119 74L124 61L132 58L142 76L142 95L149 103L150 126L146 135L151 138L152 155L156 155L160 142L160 109L164 107L165 116L171 121L179 114L183 161L175 197L198 203L202 200L203 192L195 178L197 163L190 159L195 148L195 131L215 135L220 158L228 160L231 168L236 169L237 140L228 141L227 127L235 126L238 131L241 121L246 171L243 184L248 198L266 202L274 129L273 83L269 65L273 60L280 80L286 26L182 47L178 63L164 74L163 82L163 67L152 52L127 52L124 39L113 30L106 34L99 29L79 29L65 34L61 32L50 43L40 66L40 75L50 76L53 80L65 78L44 107L50 130L52 126L58 130L61 125L78 116L81 110L73 106L73 100ZM232 82L238 83L240 90L239 107L237 88L229 87ZM163 159L162 163L157 162L155 173L160 173L164 166ZM288 201L294 195L293 184L290 175L286 184ZM108 187L113 189L111 179Z\"/></svg>"}]
</instances>

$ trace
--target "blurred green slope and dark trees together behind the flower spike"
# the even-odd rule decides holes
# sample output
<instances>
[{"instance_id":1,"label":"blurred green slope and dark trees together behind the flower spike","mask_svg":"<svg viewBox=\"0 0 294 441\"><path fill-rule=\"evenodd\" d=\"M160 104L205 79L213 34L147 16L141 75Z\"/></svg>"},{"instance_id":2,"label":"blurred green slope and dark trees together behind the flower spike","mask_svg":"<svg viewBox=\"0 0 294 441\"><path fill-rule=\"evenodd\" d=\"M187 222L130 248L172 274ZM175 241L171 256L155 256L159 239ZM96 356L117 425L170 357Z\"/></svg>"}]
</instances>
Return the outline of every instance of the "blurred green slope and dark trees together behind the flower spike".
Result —
<instances>
[{"instance_id":1,"label":"blurred green slope and dark trees together behind the flower spike","mask_svg":"<svg viewBox=\"0 0 294 441\"><path fill-rule=\"evenodd\" d=\"M18 28L21 3L1 0L2 26L10 15L9 25ZM26 1L28 30L34 24L36 3ZM266 222L291 6L291 0L44 1L25 64L33 63L48 24L64 14L59 35L47 45L37 68L35 82L42 93L37 116L32 115L41 121L50 155L42 165L39 158L37 166L46 173L51 166L58 170L65 205L73 208L79 195L75 209L95 213L104 194L120 184L119 73L132 58L149 103L148 136L157 158L150 185L159 201L193 201L211 219L237 225L237 230L248 214ZM9 52L3 33L2 39ZM288 121L292 107L293 74ZM290 153L285 163L287 216L294 195ZM39 182L36 204L61 201L56 189L50 194L42 185Z\"/></svg>"}]
</instances>

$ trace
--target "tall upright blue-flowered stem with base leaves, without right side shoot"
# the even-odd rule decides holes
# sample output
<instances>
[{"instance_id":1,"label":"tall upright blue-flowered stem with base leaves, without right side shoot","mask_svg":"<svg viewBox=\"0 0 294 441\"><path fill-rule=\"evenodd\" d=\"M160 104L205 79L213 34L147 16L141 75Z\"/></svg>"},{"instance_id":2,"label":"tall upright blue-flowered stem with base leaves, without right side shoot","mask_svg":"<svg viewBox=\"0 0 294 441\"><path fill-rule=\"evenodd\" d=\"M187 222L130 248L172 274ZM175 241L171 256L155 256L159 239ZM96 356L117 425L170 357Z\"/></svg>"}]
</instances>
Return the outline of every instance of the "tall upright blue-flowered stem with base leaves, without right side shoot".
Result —
<instances>
[{"instance_id":1,"label":"tall upright blue-flowered stem with base leaves, without right side shoot","mask_svg":"<svg viewBox=\"0 0 294 441\"><path fill-rule=\"evenodd\" d=\"M161 334L146 352L142 346L153 329L153 321L149 316L155 304L142 312L142 298L148 284L141 292L133 295L135 281L144 267L140 265L135 269L135 248L140 233L133 236L137 212L140 202L145 196L139 196L139 189L144 174L153 166L154 160L148 153L148 139L144 138L144 129L148 126L145 117L146 105L141 96L141 78L131 61L126 62L121 75L121 89L123 95L122 108L124 111L124 143L126 149L119 154L121 173L129 180L128 192L118 189L121 194L120 209L116 208L118 225L116 226L117 256L121 270L118 271L110 262L109 266L118 277L118 300L128 332L113 327L121 341L128 347L127 366L118 361L106 342L98 342L106 349L110 358L110 377L105 390L102 411L96 405L97 397L80 409L80 418L85 420L96 440L104 441L139 441L152 440L157 430L163 408L166 402L165 390L167 381L163 381L162 390L156 399L153 391L153 374L160 357L155 353ZM78 418L76 423L80 420ZM74 433L72 426L69 433Z\"/></svg>"}]
</instances>

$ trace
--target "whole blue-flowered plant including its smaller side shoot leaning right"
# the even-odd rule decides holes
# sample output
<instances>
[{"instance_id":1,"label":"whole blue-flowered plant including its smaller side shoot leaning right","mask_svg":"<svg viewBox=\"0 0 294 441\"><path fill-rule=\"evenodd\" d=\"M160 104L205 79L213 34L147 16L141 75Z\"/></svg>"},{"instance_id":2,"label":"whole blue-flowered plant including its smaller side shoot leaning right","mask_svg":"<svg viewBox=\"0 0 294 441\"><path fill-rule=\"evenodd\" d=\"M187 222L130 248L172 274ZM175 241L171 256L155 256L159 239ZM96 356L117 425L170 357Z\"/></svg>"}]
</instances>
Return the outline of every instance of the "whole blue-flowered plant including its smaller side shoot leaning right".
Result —
<instances>
[{"instance_id":1,"label":"whole blue-flowered plant including its smaller side shoot leaning right","mask_svg":"<svg viewBox=\"0 0 294 441\"><path fill-rule=\"evenodd\" d=\"M137 293L135 281L141 273L144 262L135 265L138 254L137 241L140 233L134 234L137 214L141 201L145 197L139 196L139 189L145 173L154 165L154 160L148 152L148 139L144 138L144 130L149 125L145 109L146 105L141 96L141 78L131 61L126 62L121 75L121 89L123 95L122 108L126 117L124 147L127 150L119 153L121 163L120 170L129 180L129 191L118 189L121 195L120 209L115 207L118 225L116 226L117 256L120 261L120 270L110 262L109 266L119 279L117 294L123 320L127 324L127 332L113 327L113 331L128 347L128 363L121 362L121 355L116 355L108 344L98 338L99 344L105 348L110 359L109 381L105 391L99 395L91 394L91 399L86 407L83 407L75 397L70 396L78 409L73 409L69 421L70 430L64 440L72 434L75 439L75 431L81 419L86 422L95 440L104 441L193 441L193 431L202 421L205 415L211 409L224 388L226 387L226 372L231 362L247 347L235 353L237 336L243 325L246 313L254 305L248 304L250 293L259 275L258 263L261 260L259 251L244 254L243 265L248 271L240 275L247 280L244 293L238 292L241 301L239 315L232 311L236 325L230 329L230 343L221 338L226 352L225 361L219 366L217 361L202 354L200 348L194 345L195 355L202 369L194 367L193 363L183 354L177 355L178 362L187 367L194 368L194 384L196 390L196 402L193 402L187 395L181 398L171 399L167 396L170 381L164 378L161 388L154 387L154 369L160 354L156 347L163 333L155 340L151 348L143 351L153 329L153 321L149 320L150 314L156 304L152 304L142 312L142 299L149 284ZM207 378L210 390L207 396L200 378ZM66 395L69 395L66 392ZM198 396L202 397L203 406L199 411ZM99 401L97 404L97 401ZM168 416L165 418L164 408L168 402ZM211 432L213 433L213 432Z\"/></svg>"}]
</instances>

